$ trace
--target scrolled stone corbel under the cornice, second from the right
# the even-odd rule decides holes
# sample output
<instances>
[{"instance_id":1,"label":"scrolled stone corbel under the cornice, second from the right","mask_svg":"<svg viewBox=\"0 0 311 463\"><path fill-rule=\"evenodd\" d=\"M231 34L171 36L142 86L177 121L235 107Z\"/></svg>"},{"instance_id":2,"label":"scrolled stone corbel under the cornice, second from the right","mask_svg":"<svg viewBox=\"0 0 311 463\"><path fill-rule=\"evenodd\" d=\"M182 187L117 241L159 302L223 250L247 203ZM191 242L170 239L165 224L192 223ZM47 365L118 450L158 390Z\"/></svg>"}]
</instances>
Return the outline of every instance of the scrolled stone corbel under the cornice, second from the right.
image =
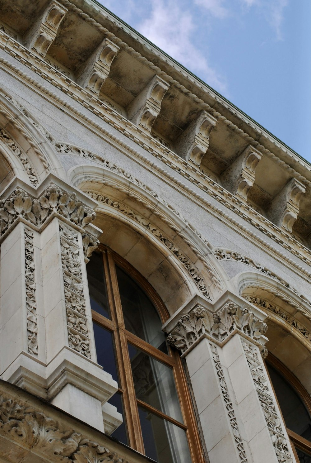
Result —
<instances>
[{"instance_id":1,"label":"scrolled stone corbel under the cornice, second from the right","mask_svg":"<svg viewBox=\"0 0 311 463\"><path fill-rule=\"evenodd\" d=\"M253 146L247 146L243 153L222 173L224 187L233 194L247 200L248 192L255 181L256 166L262 153Z\"/></svg>"}]
</instances>

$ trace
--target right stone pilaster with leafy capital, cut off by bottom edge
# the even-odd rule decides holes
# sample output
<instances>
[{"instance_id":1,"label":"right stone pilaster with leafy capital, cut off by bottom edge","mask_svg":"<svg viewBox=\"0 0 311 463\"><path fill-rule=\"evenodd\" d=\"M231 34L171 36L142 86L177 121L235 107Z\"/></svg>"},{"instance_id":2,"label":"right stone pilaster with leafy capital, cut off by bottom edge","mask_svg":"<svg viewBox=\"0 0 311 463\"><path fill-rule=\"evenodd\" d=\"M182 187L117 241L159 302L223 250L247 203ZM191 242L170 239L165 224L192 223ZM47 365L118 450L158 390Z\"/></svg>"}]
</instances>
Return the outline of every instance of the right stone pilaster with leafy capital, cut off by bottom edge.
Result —
<instances>
[{"instance_id":1,"label":"right stone pilaster with leafy capital, cut off by bottom edge","mask_svg":"<svg viewBox=\"0 0 311 463\"><path fill-rule=\"evenodd\" d=\"M183 315L168 337L185 357L210 462L293 463L262 360L265 315L221 299L215 313Z\"/></svg>"}]
</instances>

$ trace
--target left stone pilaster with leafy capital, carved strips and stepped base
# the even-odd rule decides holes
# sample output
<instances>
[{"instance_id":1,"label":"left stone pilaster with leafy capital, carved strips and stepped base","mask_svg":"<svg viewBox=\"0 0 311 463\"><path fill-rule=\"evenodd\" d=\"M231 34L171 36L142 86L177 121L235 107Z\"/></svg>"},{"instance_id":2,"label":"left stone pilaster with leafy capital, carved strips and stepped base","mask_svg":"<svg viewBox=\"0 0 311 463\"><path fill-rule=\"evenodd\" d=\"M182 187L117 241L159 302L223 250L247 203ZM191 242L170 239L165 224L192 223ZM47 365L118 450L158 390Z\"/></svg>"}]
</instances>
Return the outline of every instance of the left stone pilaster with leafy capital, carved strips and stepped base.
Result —
<instances>
[{"instance_id":1,"label":"left stone pilaster with leafy capital, carved strips and stepped base","mask_svg":"<svg viewBox=\"0 0 311 463\"><path fill-rule=\"evenodd\" d=\"M0 375L104 431L117 384L97 365L91 322L95 205L53 175L37 190L15 180L2 195Z\"/></svg>"}]
</instances>

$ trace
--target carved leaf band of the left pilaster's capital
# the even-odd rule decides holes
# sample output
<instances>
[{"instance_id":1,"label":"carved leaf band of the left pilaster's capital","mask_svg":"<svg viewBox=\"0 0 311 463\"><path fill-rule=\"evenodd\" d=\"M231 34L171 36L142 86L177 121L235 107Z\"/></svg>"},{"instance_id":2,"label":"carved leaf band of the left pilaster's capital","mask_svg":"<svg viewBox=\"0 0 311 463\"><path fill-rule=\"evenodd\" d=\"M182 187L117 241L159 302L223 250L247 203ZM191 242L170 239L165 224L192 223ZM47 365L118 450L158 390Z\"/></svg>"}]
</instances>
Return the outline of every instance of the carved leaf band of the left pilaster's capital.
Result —
<instances>
[{"instance_id":1,"label":"carved leaf band of the left pilaster's capital","mask_svg":"<svg viewBox=\"0 0 311 463\"><path fill-rule=\"evenodd\" d=\"M0 202L0 238L21 218L35 225L40 231L53 214L69 220L80 228L85 255L90 256L99 241L91 232L86 231L85 227L95 219L95 212L82 204L75 193L67 193L53 183L49 184L39 198L33 198L22 188L16 188L8 199Z\"/></svg>"}]
</instances>

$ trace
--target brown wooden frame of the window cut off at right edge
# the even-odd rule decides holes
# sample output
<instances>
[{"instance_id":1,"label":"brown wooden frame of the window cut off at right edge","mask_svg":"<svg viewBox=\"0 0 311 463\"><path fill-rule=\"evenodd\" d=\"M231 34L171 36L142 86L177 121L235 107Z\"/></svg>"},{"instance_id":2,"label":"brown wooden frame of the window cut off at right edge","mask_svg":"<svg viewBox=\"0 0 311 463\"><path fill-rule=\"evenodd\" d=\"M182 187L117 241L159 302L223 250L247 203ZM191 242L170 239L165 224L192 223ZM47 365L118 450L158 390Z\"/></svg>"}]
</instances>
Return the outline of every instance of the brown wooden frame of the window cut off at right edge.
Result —
<instances>
[{"instance_id":1,"label":"brown wooden frame of the window cut off at right edge","mask_svg":"<svg viewBox=\"0 0 311 463\"><path fill-rule=\"evenodd\" d=\"M308 394L308 392L306 391L306 389L304 388L304 386L296 378L296 376L284 365L284 363L282 363L278 358L274 357L274 355L271 354L271 352L268 352L268 357L266 358L266 361L272 367L274 367L274 369L276 369L278 372L280 372L282 376L284 376L284 378L287 380L287 382L292 386L292 388L300 396L301 400L305 404L305 407L306 407L306 409L308 410L308 412L309 412L309 414L311 416L311 397ZM268 368L266 368L266 369L267 369L268 377L269 377L269 380L270 380L270 384L271 384L271 386L273 388L274 397L275 397L275 399L277 401L277 404L278 404L278 407L279 407L279 410L280 410L280 413L281 413L281 416L282 416L282 419L283 419L283 423L284 423L284 425L286 427L288 437L290 438L290 442L291 442L291 445L292 445L292 448L293 448L293 452L294 452L296 461L297 461L297 463L299 463L299 457L297 455L297 451L296 451L295 447L298 447L300 450L303 450L305 453L307 453L307 455L310 455L310 457L311 457L311 442L309 440L303 438L302 436L299 436L299 434L297 434L296 432L293 432L291 429L287 428L284 417L283 417L283 414L282 414L282 411L281 411L281 407L279 405L278 398L277 398L277 396L275 394L275 391L274 391L274 386L273 386L273 383L271 381L271 378L270 378L270 375L269 375L269 372L268 372Z\"/></svg>"}]
</instances>

